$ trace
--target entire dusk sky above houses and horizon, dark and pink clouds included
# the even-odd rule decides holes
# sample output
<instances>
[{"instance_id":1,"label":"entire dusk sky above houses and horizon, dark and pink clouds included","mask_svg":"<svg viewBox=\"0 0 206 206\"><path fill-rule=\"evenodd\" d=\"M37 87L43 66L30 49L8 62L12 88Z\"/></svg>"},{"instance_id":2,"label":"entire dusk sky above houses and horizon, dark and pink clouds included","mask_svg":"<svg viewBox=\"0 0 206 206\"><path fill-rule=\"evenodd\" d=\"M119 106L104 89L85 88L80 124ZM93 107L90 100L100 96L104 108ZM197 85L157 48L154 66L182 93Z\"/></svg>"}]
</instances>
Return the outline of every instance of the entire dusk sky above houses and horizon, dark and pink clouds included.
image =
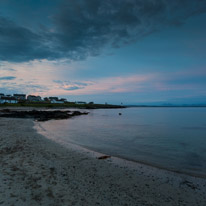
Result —
<instances>
[{"instance_id":1,"label":"entire dusk sky above houses and horizon, dark and pink clouds included","mask_svg":"<svg viewBox=\"0 0 206 206\"><path fill-rule=\"evenodd\" d=\"M0 0L0 93L206 103L206 0Z\"/></svg>"}]
</instances>

